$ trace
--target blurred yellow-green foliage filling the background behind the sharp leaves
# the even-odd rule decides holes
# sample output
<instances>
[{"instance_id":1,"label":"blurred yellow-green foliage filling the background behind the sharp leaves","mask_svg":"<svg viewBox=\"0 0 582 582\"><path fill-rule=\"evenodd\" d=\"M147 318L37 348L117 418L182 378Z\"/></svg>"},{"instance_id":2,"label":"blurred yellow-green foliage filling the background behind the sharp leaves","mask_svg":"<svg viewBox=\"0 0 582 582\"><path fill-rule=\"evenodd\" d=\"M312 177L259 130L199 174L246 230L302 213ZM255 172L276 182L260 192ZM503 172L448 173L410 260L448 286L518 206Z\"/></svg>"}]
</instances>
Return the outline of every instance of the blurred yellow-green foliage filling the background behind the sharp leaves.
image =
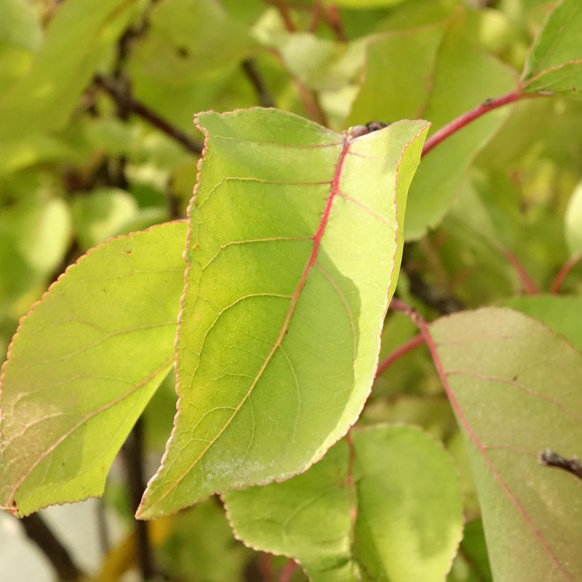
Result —
<instances>
[{"instance_id":1,"label":"blurred yellow-green foliage filling the background behind the sharp leaves","mask_svg":"<svg viewBox=\"0 0 582 582\"><path fill-rule=\"evenodd\" d=\"M438 128L515 85L554 5L1 0L0 351L18 318L88 248L185 217L202 147L195 112L277 106L336 130L406 116L426 116ZM428 317L503 303L567 327L579 317L579 300L552 316L548 298L511 297L527 291L520 268L549 292L561 265L582 251L582 101L525 100L463 131L449 150L427 158L414 181L400 296ZM575 265L561 291L581 290ZM415 333L408 319L391 315L380 357ZM168 378L145 414L148 472L174 410ZM419 424L447 444L468 520L450 580L490 579L463 446L424 348L378 378L361 422L378 421ZM135 579L123 471L114 466L104 503L82 507L77 514L53 508L48 519L77 532L69 536L72 551L97 579ZM37 564L32 577L22 570L23 579L50 579L14 523L2 517L0 570L18 556ZM266 581L285 567L285 559L236 542L218 499L153 522L150 532L172 580ZM292 576L304 579L300 569Z\"/></svg>"}]
</instances>

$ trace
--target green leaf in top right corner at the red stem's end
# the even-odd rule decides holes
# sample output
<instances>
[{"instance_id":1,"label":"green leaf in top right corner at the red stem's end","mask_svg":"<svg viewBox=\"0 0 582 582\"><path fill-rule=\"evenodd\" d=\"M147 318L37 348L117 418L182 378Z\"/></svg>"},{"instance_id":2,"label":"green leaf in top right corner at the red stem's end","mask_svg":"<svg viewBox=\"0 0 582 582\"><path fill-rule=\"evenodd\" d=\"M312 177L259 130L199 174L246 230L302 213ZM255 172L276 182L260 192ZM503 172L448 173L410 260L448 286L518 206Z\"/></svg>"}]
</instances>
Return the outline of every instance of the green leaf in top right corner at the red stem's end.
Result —
<instances>
[{"instance_id":1,"label":"green leaf in top right corner at the red stem's end","mask_svg":"<svg viewBox=\"0 0 582 582\"><path fill-rule=\"evenodd\" d=\"M563 0L550 14L527 58L522 91L582 92L582 5Z\"/></svg>"}]
</instances>

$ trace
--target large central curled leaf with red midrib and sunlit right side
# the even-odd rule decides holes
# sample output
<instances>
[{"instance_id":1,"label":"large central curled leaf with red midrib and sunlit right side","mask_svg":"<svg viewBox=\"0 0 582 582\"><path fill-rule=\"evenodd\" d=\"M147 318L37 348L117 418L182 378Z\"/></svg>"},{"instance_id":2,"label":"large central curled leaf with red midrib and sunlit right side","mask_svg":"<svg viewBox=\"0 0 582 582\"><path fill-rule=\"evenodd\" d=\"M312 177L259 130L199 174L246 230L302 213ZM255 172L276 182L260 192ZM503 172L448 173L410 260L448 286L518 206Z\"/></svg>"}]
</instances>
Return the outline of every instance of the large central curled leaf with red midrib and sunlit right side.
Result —
<instances>
[{"instance_id":1,"label":"large central curled leaf with red midrib and sunlit right side","mask_svg":"<svg viewBox=\"0 0 582 582\"><path fill-rule=\"evenodd\" d=\"M200 114L175 429L138 517L304 471L368 396L427 132Z\"/></svg>"}]
</instances>

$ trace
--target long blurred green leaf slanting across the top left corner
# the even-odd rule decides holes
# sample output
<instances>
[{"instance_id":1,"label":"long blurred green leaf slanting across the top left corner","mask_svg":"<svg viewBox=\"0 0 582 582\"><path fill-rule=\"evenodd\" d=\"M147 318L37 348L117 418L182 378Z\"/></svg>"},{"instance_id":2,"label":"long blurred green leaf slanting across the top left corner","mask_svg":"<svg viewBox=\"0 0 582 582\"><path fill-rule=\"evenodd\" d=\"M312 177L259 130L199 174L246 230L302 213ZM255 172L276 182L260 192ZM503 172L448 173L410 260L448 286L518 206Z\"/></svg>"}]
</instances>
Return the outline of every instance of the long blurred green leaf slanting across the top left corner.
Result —
<instances>
[{"instance_id":1,"label":"long blurred green leaf slanting across the top left corner","mask_svg":"<svg viewBox=\"0 0 582 582\"><path fill-rule=\"evenodd\" d=\"M59 6L27 74L0 95L0 138L62 128L137 6L138 0Z\"/></svg>"}]
</instances>

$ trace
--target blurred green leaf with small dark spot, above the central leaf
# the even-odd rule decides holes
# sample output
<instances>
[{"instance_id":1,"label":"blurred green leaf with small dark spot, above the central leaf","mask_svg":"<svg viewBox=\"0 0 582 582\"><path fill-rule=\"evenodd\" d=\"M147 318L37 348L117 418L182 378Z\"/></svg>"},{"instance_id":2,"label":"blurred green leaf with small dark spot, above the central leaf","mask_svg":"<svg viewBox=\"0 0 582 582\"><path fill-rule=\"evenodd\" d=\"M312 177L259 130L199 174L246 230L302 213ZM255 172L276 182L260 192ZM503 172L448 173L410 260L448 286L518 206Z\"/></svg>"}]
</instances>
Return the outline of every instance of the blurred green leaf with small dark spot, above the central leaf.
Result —
<instances>
[{"instance_id":1,"label":"blurred green leaf with small dark spot, above the central leaf","mask_svg":"<svg viewBox=\"0 0 582 582\"><path fill-rule=\"evenodd\" d=\"M249 29L216 0L159 2L136 41L128 72L136 96L185 131L204 109L255 104L239 66L257 50Z\"/></svg>"}]
</instances>

